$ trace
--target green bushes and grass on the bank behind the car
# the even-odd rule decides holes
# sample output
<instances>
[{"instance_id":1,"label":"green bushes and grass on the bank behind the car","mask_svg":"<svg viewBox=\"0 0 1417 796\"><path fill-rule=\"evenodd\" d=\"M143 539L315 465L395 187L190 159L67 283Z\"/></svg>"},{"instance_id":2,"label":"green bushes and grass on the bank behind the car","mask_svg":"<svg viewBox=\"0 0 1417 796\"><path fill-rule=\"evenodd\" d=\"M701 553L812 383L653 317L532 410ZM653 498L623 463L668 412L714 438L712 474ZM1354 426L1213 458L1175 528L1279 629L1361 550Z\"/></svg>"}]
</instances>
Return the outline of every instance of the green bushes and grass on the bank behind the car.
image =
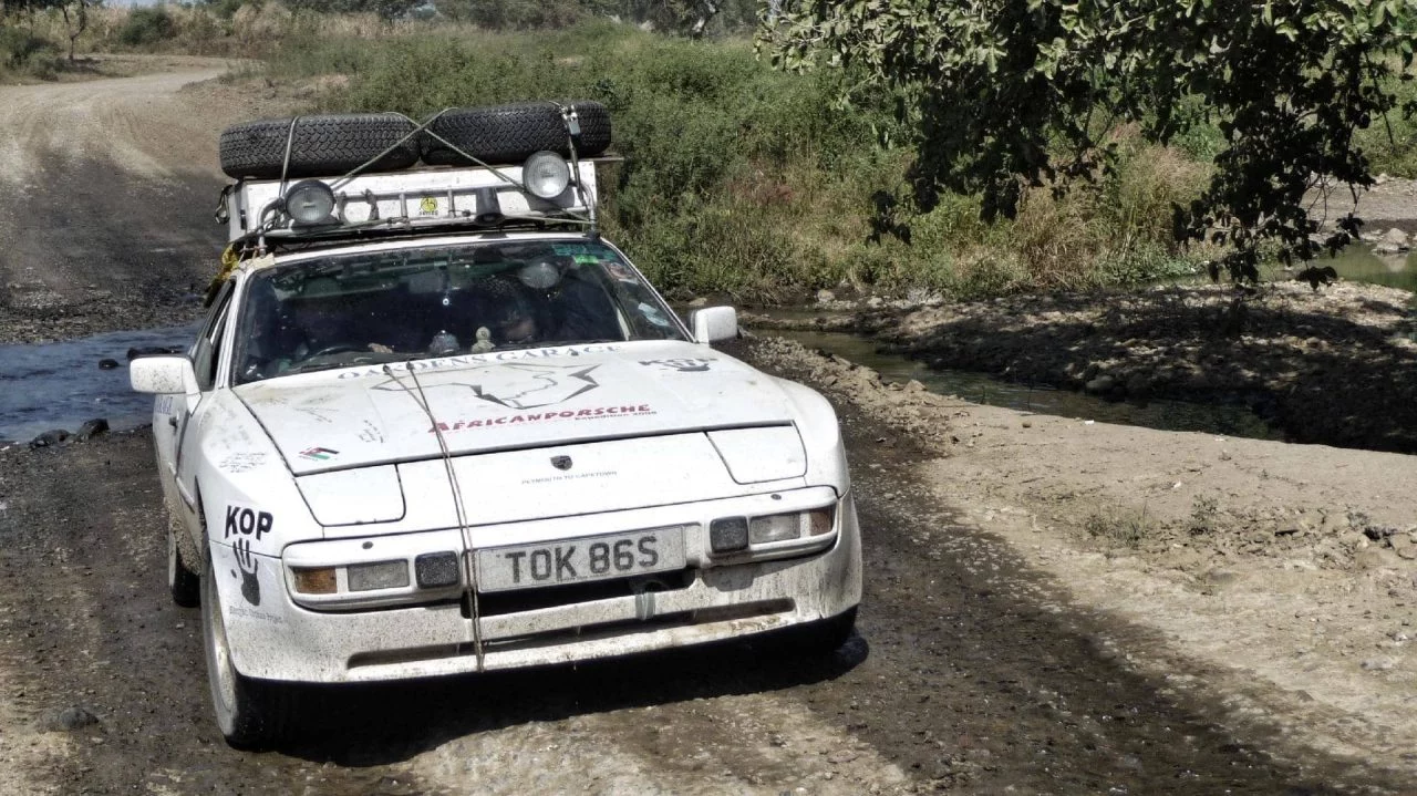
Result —
<instances>
[{"instance_id":1,"label":"green bushes and grass on the bank behind the car","mask_svg":"<svg viewBox=\"0 0 1417 796\"><path fill-rule=\"evenodd\" d=\"M529 98L605 102L615 119L608 234L672 293L774 300L846 280L887 290L998 295L1091 288L1193 272L1169 244L1170 201L1204 173L1180 156L1129 152L1095 191L1030 194L985 224L975 197L914 210L908 140L891 96L839 109L853 75L785 75L747 42L693 42L591 23L565 31L475 33L289 45L272 68L349 75L323 110L422 116ZM337 67L336 67L337 65ZM1128 146L1122 142L1121 146Z\"/></svg>"}]
</instances>

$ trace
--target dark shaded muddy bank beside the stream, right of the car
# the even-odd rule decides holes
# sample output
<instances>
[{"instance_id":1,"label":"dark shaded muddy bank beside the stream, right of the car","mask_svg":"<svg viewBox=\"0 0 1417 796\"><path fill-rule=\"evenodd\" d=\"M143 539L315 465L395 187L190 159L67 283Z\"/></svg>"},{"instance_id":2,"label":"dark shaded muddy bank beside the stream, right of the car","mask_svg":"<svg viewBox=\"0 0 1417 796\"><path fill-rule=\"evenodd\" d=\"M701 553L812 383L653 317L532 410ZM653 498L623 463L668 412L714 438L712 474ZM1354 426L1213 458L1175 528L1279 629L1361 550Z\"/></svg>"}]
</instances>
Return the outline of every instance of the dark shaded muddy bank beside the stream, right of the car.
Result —
<instances>
[{"instance_id":1,"label":"dark shaded muddy bank beside the stream, right of the car","mask_svg":"<svg viewBox=\"0 0 1417 796\"><path fill-rule=\"evenodd\" d=\"M852 330L931 367L1114 401L1238 404L1291 442L1417 452L1417 310L1394 288L1176 285L748 323Z\"/></svg>"}]
</instances>

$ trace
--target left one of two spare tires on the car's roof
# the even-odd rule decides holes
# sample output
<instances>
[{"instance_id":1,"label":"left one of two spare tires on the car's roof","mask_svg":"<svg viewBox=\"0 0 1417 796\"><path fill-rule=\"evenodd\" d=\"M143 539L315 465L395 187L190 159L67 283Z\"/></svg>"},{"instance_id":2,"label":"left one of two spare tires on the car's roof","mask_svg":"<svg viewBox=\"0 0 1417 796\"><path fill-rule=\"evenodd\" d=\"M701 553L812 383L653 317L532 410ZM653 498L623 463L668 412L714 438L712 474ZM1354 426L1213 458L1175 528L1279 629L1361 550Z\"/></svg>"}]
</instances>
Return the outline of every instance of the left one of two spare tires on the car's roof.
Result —
<instances>
[{"instance_id":1,"label":"left one of two spare tires on the car's roof","mask_svg":"<svg viewBox=\"0 0 1417 796\"><path fill-rule=\"evenodd\" d=\"M244 122L221 133L221 170L237 180L279 180L290 135L286 177L336 177L363 166L412 130L408 119L391 113L300 116L293 133L290 118ZM397 171L417 161L418 136L412 136L368 171Z\"/></svg>"}]
</instances>

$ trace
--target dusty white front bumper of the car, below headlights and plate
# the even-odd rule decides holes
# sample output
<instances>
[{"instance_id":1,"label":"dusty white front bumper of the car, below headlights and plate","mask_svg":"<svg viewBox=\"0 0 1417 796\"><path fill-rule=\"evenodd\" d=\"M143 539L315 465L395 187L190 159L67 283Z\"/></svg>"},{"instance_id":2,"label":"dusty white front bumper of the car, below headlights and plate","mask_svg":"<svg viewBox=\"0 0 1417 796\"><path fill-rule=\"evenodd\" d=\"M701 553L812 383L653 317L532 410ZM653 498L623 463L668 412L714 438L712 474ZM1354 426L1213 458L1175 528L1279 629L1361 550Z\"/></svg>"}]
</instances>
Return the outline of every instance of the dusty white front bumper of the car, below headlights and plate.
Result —
<instances>
[{"instance_id":1,"label":"dusty white front bumper of the car, below headlights and plate","mask_svg":"<svg viewBox=\"0 0 1417 796\"><path fill-rule=\"evenodd\" d=\"M479 670L466 596L414 608L317 612L292 602L279 559L262 558L249 574L238 572L231 548L213 545L213 555L232 663L248 677L361 683ZM862 598L854 504L850 494L842 500L836 542L825 552L694 564L704 562L691 562L684 582L669 591L483 616L482 670L710 643L839 616Z\"/></svg>"}]
</instances>

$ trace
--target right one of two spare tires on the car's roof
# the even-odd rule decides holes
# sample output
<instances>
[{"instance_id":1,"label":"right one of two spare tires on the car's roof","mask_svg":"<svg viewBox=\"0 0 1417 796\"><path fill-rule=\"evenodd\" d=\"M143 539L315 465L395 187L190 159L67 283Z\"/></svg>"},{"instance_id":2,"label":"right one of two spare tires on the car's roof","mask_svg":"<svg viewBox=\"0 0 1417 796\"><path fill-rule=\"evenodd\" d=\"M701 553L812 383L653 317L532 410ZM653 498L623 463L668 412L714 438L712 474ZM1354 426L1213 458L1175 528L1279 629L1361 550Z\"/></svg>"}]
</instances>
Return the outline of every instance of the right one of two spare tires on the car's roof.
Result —
<instances>
[{"instance_id":1,"label":"right one of two spare tires on the car's roof","mask_svg":"<svg viewBox=\"0 0 1417 796\"><path fill-rule=\"evenodd\" d=\"M580 157L594 157L611 146L611 115L604 105L582 99L563 105L574 105L581 123ZM490 164L521 163L541 150L561 157L571 154L561 109L551 102L458 108L439 116L428 129ZM424 136L422 156L429 166L473 166L432 136Z\"/></svg>"}]
</instances>

